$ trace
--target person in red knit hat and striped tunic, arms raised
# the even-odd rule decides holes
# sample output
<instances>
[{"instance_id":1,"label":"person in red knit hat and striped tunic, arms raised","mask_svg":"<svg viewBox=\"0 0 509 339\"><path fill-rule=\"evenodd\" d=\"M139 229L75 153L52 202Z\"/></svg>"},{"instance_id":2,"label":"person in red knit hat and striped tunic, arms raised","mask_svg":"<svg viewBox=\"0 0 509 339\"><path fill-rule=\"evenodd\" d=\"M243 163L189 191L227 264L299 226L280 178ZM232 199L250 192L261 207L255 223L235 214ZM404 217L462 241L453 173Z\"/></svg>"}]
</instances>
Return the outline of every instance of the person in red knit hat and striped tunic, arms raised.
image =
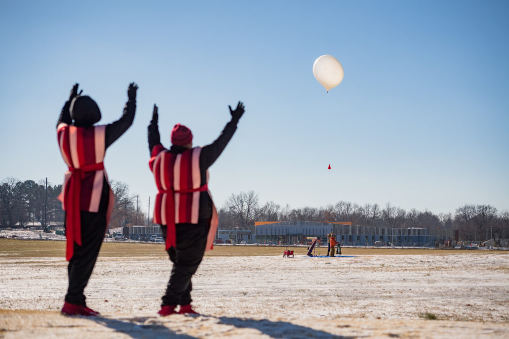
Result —
<instances>
[{"instance_id":1,"label":"person in red knit hat and striped tunic, arms raised","mask_svg":"<svg viewBox=\"0 0 509 339\"><path fill-rule=\"evenodd\" d=\"M161 316L196 314L191 307L191 277L205 251L212 250L217 230L217 212L207 187L208 168L226 147L244 114L240 101L235 110L229 108L230 122L210 145L192 147L191 131L177 124L172 130L172 146L168 150L160 142L158 109L154 105L148 127L149 166L158 189L153 221L161 226L165 249L173 262L158 312Z\"/></svg>"}]
</instances>

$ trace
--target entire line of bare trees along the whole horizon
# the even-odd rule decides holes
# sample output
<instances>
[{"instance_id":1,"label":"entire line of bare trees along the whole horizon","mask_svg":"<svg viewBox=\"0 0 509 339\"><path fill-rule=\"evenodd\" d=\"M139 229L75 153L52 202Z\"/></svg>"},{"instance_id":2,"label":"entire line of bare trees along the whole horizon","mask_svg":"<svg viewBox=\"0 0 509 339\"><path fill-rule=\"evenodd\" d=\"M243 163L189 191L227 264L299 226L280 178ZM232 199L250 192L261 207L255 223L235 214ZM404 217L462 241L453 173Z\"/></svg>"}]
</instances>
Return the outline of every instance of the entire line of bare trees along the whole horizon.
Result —
<instances>
[{"instance_id":1,"label":"entire line of bare trees along the whole horizon","mask_svg":"<svg viewBox=\"0 0 509 339\"><path fill-rule=\"evenodd\" d=\"M110 181L115 195L115 205L111 215L110 228L129 225L151 226L147 214L142 211L142 204L137 194L131 194L128 184L122 181ZM20 181L8 177L0 181L0 226L27 227L31 222L42 226L50 223L62 224L64 212L57 199L62 191L62 184L48 183L45 180ZM47 196L46 196L47 192ZM250 227L255 221L315 221L334 222L350 221L353 225L379 226L390 228L428 228L458 229L464 240L487 240L498 237L509 238L509 211L497 211L491 205L464 205L455 213L432 211L409 211L387 203L385 206L366 203L358 205L339 201L322 207L290 208L273 201L262 204L258 193L241 192L228 197L218 210L219 226ZM488 236L487 236L488 231Z\"/></svg>"}]
</instances>

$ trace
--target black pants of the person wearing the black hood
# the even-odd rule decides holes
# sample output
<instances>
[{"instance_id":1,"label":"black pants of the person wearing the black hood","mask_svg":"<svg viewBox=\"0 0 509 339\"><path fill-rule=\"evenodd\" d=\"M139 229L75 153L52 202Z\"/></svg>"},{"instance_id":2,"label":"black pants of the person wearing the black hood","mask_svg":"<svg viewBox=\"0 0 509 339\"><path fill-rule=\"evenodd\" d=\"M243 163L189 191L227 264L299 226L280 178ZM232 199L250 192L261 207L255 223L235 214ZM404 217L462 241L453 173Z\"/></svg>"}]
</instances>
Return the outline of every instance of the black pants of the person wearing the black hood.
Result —
<instances>
[{"instance_id":1,"label":"black pants of the person wearing the black hood","mask_svg":"<svg viewBox=\"0 0 509 339\"><path fill-rule=\"evenodd\" d=\"M99 255L106 232L106 212L84 212L81 214L81 246L74 243L74 255L69 260L67 272L69 287L65 301L85 305L83 290L87 286Z\"/></svg>"}]
</instances>

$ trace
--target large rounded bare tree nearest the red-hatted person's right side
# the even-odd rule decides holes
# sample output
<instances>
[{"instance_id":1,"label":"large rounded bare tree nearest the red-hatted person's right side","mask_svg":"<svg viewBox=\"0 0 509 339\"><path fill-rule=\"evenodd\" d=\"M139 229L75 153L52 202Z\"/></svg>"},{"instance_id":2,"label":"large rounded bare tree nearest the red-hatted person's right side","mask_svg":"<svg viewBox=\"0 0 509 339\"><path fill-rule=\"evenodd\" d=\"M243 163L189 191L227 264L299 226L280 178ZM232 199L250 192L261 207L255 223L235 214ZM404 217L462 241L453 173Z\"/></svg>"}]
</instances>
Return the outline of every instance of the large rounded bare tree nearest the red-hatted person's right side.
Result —
<instances>
[{"instance_id":1,"label":"large rounded bare tree nearest the red-hatted person's right side","mask_svg":"<svg viewBox=\"0 0 509 339\"><path fill-rule=\"evenodd\" d=\"M254 191L233 194L225 206L232 212L234 220L242 227L254 224L258 215L258 193Z\"/></svg>"}]
</instances>

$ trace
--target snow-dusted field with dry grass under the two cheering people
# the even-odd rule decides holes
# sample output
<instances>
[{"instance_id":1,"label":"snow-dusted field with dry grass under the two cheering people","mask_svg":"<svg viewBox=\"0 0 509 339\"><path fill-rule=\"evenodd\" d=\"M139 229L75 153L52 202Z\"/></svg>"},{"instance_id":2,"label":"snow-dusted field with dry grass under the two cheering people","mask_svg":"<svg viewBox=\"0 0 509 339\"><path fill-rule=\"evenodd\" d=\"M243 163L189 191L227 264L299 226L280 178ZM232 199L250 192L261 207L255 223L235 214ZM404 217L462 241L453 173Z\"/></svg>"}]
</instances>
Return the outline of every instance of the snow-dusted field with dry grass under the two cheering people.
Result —
<instances>
[{"instance_id":1,"label":"snow-dusted field with dry grass under the two cheering people","mask_svg":"<svg viewBox=\"0 0 509 339\"><path fill-rule=\"evenodd\" d=\"M192 293L202 316L165 318L166 258L100 257L85 291L93 320L59 315L62 258L0 258L0 337L509 337L509 254L346 252L205 257Z\"/></svg>"}]
</instances>

